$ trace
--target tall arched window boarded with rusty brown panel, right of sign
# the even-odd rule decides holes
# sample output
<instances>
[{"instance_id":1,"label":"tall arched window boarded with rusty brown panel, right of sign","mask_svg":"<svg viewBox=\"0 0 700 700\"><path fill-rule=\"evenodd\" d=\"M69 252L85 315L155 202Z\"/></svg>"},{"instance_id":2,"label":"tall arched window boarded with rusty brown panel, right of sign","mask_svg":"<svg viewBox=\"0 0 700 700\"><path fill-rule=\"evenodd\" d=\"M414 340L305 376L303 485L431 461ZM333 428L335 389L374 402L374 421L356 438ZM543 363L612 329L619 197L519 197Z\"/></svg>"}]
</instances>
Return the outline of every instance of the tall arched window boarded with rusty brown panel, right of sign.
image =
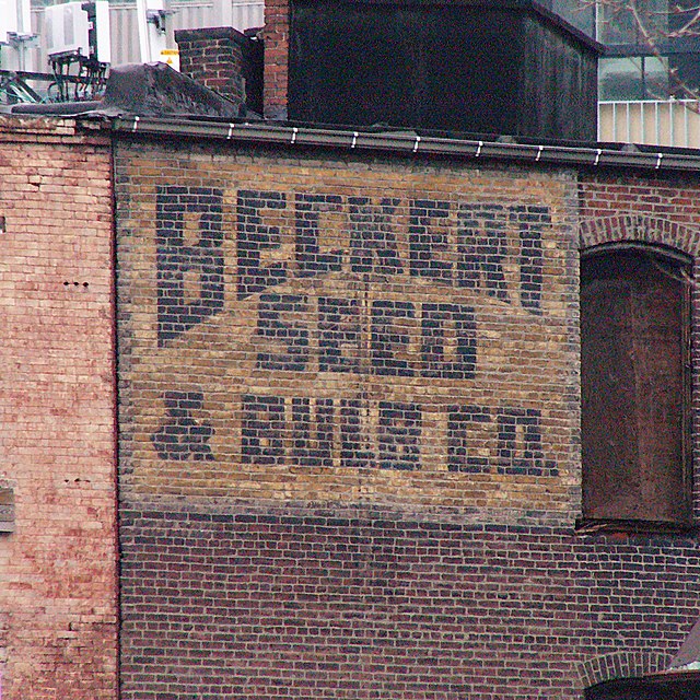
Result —
<instances>
[{"instance_id":1,"label":"tall arched window boarded with rusty brown panel, right of sign","mask_svg":"<svg viewBox=\"0 0 700 700\"><path fill-rule=\"evenodd\" d=\"M586 518L690 518L688 273L688 260L660 248L582 258Z\"/></svg>"}]
</instances>

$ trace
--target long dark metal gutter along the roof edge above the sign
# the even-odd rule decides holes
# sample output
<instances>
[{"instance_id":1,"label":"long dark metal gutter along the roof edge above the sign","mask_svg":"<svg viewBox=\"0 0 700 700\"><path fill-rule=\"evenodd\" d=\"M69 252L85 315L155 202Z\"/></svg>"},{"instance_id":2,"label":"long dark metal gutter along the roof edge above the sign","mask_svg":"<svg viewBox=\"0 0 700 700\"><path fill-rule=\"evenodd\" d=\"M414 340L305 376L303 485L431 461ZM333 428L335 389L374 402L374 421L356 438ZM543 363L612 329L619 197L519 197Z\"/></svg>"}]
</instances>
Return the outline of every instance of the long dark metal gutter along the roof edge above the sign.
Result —
<instances>
[{"instance_id":1,"label":"long dark metal gutter along the roof edge above the sign","mask_svg":"<svg viewBox=\"0 0 700 700\"><path fill-rule=\"evenodd\" d=\"M352 131L267 122L222 122L163 117L116 117L112 130L122 135L205 138L217 141L326 147L358 151L501 159L575 167L625 167L657 172L700 172L700 150L621 150L610 145L571 147L556 143L511 143L420 136L412 131Z\"/></svg>"}]
</instances>

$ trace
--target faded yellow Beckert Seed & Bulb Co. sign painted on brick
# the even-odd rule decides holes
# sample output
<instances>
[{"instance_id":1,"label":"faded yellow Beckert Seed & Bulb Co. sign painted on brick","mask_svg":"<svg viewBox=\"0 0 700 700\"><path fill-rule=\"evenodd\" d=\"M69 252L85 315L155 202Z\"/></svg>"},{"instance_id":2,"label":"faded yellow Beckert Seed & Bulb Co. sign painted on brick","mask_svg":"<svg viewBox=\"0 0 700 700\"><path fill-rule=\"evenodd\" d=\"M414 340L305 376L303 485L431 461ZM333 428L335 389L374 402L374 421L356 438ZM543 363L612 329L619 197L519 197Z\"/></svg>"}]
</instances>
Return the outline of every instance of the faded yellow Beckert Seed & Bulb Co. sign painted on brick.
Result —
<instances>
[{"instance_id":1,"label":"faded yellow Beckert Seed & Bulb Co. sign painted on brick","mask_svg":"<svg viewBox=\"0 0 700 700\"><path fill-rule=\"evenodd\" d=\"M130 328L143 482L450 503L467 487L495 503L537 477L557 492L560 186L503 178L493 196L452 174L439 196L430 174L300 173L150 184L148 236L125 260L147 302Z\"/></svg>"}]
</instances>

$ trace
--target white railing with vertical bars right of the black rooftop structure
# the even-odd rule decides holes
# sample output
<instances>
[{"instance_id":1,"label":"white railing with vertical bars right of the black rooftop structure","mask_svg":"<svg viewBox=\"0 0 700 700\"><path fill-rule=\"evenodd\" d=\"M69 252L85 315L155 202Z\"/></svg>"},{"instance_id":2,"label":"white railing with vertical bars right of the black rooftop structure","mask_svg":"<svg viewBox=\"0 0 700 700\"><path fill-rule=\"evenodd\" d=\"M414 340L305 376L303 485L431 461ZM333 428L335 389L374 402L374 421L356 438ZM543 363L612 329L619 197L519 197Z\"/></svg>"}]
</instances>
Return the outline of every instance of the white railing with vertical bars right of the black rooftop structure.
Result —
<instances>
[{"instance_id":1,"label":"white railing with vertical bars right of the black rooftop structure","mask_svg":"<svg viewBox=\"0 0 700 700\"><path fill-rule=\"evenodd\" d=\"M598 140L700 148L700 103L690 100L600 102Z\"/></svg>"}]
</instances>

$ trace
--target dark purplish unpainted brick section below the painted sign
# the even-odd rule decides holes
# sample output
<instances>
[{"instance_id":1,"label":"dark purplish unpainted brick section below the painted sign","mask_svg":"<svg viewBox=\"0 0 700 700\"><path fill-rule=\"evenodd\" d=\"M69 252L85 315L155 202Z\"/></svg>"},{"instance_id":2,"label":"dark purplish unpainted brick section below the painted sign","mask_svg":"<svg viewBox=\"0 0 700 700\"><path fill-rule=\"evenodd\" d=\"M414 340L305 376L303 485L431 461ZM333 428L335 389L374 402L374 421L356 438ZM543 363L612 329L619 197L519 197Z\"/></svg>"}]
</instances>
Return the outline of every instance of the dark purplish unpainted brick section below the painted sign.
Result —
<instances>
[{"instance_id":1,"label":"dark purplish unpainted brick section below the painted sign","mask_svg":"<svg viewBox=\"0 0 700 700\"><path fill-rule=\"evenodd\" d=\"M122 528L125 699L576 698L663 666L698 616L692 538L160 508Z\"/></svg>"}]
</instances>

